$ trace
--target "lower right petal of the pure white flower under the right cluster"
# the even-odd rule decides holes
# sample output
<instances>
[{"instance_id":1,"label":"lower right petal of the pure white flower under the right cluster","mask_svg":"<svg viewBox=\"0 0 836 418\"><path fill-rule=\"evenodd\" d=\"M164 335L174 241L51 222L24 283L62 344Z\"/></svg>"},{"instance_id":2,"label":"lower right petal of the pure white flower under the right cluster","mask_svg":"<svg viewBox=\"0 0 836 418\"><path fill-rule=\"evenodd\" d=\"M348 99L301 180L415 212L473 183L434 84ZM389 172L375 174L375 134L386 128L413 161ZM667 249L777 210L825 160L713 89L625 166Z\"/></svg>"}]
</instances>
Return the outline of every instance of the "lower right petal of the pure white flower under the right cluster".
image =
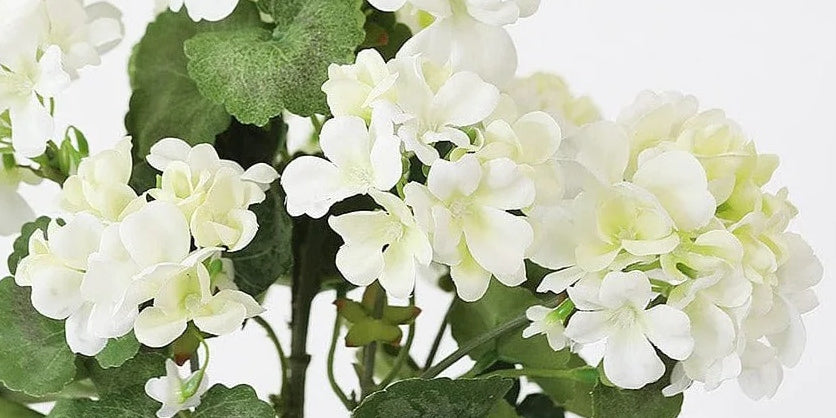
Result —
<instances>
[{"instance_id":1,"label":"lower right petal of the pure white flower under the right cluster","mask_svg":"<svg viewBox=\"0 0 836 418\"><path fill-rule=\"evenodd\" d=\"M657 305L645 312L647 338L674 360L685 360L694 350L691 321L684 312Z\"/></svg>"}]
</instances>

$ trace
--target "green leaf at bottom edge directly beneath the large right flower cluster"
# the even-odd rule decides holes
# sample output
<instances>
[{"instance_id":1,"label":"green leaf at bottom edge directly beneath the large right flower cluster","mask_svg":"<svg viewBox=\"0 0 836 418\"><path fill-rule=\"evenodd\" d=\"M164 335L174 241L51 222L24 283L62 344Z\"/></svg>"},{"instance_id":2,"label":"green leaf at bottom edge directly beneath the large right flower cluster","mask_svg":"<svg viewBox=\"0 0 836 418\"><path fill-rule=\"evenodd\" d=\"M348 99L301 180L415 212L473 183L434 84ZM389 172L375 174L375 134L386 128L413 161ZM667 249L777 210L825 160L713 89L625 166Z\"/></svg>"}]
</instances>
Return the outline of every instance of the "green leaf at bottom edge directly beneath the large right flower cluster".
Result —
<instances>
[{"instance_id":1,"label":"green leaf at bottom edge directly beneath the large right flower cluster","mask_svg":"<svg viewBox=\"0 0 836 418\"><path fill-rule=\"evenodd\" d=\"M682 409L682 394L667 398L662 388L669 379L639 390L626 390L598 385L592 392L593 418L675 418Z\"/></svg>"}]
</instances>

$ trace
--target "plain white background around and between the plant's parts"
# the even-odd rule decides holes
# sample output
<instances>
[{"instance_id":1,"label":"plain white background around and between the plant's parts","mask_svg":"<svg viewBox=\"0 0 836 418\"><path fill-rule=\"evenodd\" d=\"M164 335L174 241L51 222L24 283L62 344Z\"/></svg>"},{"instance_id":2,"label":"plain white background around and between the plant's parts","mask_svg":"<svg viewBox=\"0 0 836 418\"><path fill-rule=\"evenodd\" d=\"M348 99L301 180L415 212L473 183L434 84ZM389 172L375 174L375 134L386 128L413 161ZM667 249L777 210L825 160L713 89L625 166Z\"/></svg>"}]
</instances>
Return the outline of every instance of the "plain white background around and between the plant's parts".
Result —
<instances>
[{"instance_id":1,"label":"plain white background around and between the plant's parts","mask_svg":"<svg viewBox=\"0 0 836 418\"><path fill-rule=\"evenodd\" d=\"M130 90L126 73L131 46L151 19L151 0L113 0L125 13L125 41L100 67L58 101L63 123L81 128L94 151L124 135ZM771 187L787 186L800 208L792 226L816 249L825 265L818 287L821 306L806 317L808 346L801 363L785 373L774 399L753 402L733 382L686 395L685 417L785 417L832 414L836 376L836 6L831 0L543 0L534 17L511 28L520 54L520 73L562 74L576 93L591 95L615 117L642 89L676 89L719 107L736 119L762 152L781 156ZM56 188L27 188L30 202L55 212ZM9 239L0 239L7 252ZM5 264L5 263L2 263ZM5 266L3 267L5 268ZM423 361L449 296L422 284L424 313L418 320L414 355ZM325 354L334 310L332 294L314 304L309 347L307 413L340 416L342 406L325 379ZM266 317L289 348L289 292L271 291ZM450 341L442 355L451 350ZM278 361L255 325L212 343L210 376L226 384L249 383L262 397L279 389ZM352 354L338 353L338 379L356 383ZM465 363L465 362L462 362ZM460 364L454 371L464 370ZM454 375L454 374L453 374ZM345 414L347 415L347 414ZM832 416L832 415L831 415Z\"/></svg>"}]
</instances>

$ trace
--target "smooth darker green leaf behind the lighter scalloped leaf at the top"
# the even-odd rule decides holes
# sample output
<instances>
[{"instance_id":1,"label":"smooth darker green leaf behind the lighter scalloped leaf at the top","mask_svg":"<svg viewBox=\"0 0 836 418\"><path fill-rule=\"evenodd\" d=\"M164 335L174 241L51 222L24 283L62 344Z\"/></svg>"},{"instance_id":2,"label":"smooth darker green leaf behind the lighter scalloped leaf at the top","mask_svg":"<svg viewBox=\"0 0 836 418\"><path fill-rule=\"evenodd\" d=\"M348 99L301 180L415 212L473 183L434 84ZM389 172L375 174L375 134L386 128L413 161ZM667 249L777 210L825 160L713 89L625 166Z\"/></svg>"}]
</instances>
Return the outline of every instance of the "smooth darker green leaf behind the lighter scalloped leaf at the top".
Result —
<instances>
[{"instance_id":1,"label":"smooth darker green leaf behind the lighter scalloped leaf at the top","mask_svg":"<svg viewBox=\"0 0 836 418\"><path fill-rule=\"evenodd\" d=\"M192 145L213 143L226 130L229 114L198 91L186 70L183 43L199 33L260 24L255 5L242 1L221 22L195 23L185 11L167 11L148 25L130 62L134 91L125 127L133 137L135 162L162 138L181 138Z\"/></svg>"}]
</instances>

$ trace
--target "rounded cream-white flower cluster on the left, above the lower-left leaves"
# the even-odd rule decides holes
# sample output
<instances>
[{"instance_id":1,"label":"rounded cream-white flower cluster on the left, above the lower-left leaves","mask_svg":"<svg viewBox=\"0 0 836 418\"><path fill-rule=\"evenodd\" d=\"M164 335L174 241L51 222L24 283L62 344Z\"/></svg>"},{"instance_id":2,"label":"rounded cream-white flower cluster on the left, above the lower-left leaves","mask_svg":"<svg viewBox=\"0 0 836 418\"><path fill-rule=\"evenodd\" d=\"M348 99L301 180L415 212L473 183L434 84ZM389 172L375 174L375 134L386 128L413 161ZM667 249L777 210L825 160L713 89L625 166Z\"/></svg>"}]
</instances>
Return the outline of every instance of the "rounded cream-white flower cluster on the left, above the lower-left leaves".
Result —
<instances>
[{"instance_id":1,"label":"rounded cream-white flower cluster on the left, above the lower-left leaves","mask_svg":"<svg viewBox=\"0 0 836 418\"><path fill-rule=\"evenodd\" d=\"M82 160L62 190L73 215L32 235L15 274L38 312L66 319L70 348L85 355L132 330L162 347L190 321L223 335L263 311L236 290L221 255L252 241L258 223L249 206L265 199L275 170L244 170L210 145L169 138L147 158L162 172L158 187L138 196L128 186L130 151L126 139Z\"/></svg>"}]
</instances>

